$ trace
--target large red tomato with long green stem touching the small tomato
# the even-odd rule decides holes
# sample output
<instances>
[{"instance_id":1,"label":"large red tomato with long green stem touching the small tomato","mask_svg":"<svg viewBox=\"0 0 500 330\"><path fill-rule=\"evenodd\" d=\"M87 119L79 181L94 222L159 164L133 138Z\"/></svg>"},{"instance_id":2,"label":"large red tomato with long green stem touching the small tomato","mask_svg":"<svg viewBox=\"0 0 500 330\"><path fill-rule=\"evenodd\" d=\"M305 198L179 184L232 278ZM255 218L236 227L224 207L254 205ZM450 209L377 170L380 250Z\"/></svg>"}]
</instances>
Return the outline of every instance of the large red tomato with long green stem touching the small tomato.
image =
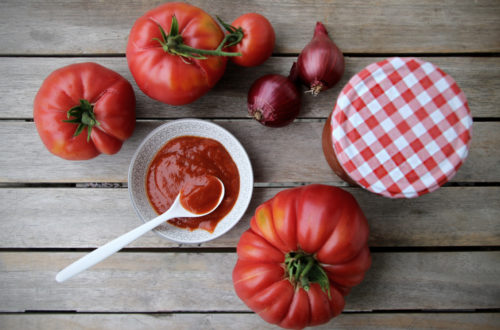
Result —
<instances>
[{"instance_id":1,"label":"large red tomato with long green stem touching the small tomato","mask_svg":"<svg viewBox=\"0 0 500 330\"><path fill-rule=\"evenodd\" d=\"M135 22L127 45L128 65L146 95L171 105L187 104L222 77L226 57L203 50L214 52L223 39L219 25L200 8L166 3Z\"/></svg>"}]
</instances>

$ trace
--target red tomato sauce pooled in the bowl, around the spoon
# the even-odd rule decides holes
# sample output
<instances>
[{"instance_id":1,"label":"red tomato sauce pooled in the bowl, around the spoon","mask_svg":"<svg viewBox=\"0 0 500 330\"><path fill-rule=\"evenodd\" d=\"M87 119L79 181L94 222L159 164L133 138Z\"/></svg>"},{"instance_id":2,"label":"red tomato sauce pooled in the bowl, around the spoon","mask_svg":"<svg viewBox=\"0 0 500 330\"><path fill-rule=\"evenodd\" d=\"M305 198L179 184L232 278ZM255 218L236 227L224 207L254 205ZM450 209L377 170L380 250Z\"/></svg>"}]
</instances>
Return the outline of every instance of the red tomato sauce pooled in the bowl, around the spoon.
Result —
<instances>
[{"instance_id":1,"label":"red tomato sauce pooled in the bowl, around the spoon","mask_svg":"<svg viewBox=\"0 0 500 330\"><path fill-rule=\"evenodd\" d=\"M161 214L168 210L184 186L189 187L207 176L217 177L224 184L224 198L217 209L202 217L175 218L168 222L189 230L200 228L213 232L217 223L233 208L240 190L238 168L218 141L181 136L167 142L148 168L146 192L149 201L156 213Z\"/></svg>"}]
</instances>

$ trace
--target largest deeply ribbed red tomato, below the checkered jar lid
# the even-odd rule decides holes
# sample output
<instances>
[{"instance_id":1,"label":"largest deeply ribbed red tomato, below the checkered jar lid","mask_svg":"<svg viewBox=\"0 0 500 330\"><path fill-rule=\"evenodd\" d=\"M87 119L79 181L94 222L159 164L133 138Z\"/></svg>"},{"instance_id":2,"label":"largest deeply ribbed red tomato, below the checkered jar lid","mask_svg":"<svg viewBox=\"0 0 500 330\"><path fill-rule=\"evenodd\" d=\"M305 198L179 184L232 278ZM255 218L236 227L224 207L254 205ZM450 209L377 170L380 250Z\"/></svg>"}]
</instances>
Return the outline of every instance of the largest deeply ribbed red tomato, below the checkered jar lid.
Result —
<instances>
[{"instance_id":1,"label":"largest deeply ribbed red tomato, below the checkered jar lid","mask_svg":"<svg viewBox=\"0 0 500 330\"><path fill-rule=\"evenodd\" d=\"M267 322L327 322L371 265L368 224L356 200L325 185L287 189L260 205L237 246L237 295Z\"/></svg>"}]
</instances>

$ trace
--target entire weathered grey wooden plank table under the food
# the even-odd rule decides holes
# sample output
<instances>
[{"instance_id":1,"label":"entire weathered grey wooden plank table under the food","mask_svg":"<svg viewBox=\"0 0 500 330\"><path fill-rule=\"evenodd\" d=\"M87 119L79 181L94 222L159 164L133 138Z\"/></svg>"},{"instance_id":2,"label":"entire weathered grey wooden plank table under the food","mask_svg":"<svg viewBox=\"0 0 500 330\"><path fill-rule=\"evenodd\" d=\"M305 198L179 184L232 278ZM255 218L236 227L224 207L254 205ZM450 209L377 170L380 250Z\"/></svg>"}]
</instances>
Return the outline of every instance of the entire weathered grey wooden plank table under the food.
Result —
<instances>
[{"instance_id":1,"label":"entire weathered grey wooden plank table under the food","mask_svg":"<svg viewBox=\"0 0 500 330\"><path fill-rule=\"evenodd\" d=\"M229 65L197 102L172 107L137 95L137 128L114 156L70 162L42 145L32 102L61 66L105 65L133 82L125 59L136 18L161 1L0 3L0 328L271 329L238 299L235 246L256 206L311 182L345 187L371 227L373 266L322 328L500 327L500 2L495 0L191 1L227 21L265 14L276 30L264 65ZM286 74L322 21L346 55L342 81L304 97L300 118L272 129L248 119L246 93L266 73ZM303 30L302 30L303 29ZM381 58L419 56L451 74L474 117L469 158L438 191L390 200L347 187L329 169L320 135L341 87ZM176 118L214 121L248 151L255 194L223 237L183 246L149 233L58 284L57 271L140 222L127 192L133 152Z\"/></svg>"}]
</instances>

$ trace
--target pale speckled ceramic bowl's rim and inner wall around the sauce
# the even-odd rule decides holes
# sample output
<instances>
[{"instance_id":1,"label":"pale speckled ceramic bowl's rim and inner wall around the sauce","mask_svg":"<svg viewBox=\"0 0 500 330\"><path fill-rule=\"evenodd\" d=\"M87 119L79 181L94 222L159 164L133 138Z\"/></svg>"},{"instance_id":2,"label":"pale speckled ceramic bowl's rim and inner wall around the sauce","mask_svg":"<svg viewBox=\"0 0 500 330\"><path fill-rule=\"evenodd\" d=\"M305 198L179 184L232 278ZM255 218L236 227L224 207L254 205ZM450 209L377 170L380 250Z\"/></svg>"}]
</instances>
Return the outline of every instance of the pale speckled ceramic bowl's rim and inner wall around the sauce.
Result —
<instances>
[{"instance_id":1,"label":"pale speckled ceramic bowl's rim and inner wall around the sauce","mask_svg":"<svg viewBox=\"0 0 500 330\"><path fill-rule=\"evenodd\" d=\"M203 243L229 231L245 213L253 191L253 171L250 159L241 143L226 129L199 119L175 120L153 130L137 148L128 172L128 191L132 205L142 221L157 216L146 194L146 174L153 157L169 140L179 136L199 136L219 141L236 163L240 175L240 192L231 211L217 224L213 233L203 229L189 231L162 224L154 231L160 236L179 243Z\"/></svg>"}]
</instances>

